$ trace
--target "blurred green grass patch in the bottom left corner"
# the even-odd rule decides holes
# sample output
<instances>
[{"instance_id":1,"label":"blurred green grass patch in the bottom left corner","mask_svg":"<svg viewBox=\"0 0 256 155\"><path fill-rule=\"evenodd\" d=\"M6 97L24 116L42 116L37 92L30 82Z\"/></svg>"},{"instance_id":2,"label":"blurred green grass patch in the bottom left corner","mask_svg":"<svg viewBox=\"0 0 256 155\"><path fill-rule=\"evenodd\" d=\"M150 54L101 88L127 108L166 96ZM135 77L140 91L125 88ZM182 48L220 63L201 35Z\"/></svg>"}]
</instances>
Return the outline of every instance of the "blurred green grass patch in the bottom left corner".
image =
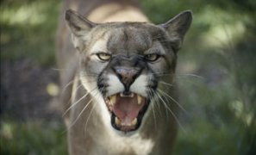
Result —
<instances>
[{"instance_id":1,"label":"blurred green grass patch in the bottom left corner","mask_svg":"<svg viewBox=\"0 0 256 155\"><path fill-rule=\"evenodd\" d=\"M58 123L2 121L1 155L67 154L66 128Z\"/></svg>"}]
</instances>

